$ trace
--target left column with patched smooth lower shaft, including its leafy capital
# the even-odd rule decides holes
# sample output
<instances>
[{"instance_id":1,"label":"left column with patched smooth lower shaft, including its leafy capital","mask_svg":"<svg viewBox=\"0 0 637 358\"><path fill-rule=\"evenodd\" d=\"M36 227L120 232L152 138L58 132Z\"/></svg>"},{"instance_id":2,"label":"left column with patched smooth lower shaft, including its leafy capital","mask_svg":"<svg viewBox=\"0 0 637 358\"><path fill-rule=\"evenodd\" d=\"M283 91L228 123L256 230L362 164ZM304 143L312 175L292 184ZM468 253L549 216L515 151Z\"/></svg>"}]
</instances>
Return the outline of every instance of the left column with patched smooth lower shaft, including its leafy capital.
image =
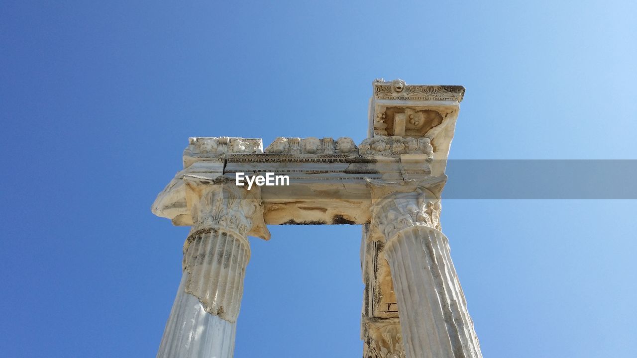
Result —
<instances>
[{"instance_id":1,"label":"left column with patched smooth lower shaft, including its leafy capital","mask_svg":"<svg viewBox=\"0 0 637 358\"><path fill-rule=\"evenodd\" d=\"M254 193L233 184L205 184L187 182L194 225L183 247L182 282L157 358L233 357L250 259L247 233L261 210Z\"/></svg>"}]
</instances>

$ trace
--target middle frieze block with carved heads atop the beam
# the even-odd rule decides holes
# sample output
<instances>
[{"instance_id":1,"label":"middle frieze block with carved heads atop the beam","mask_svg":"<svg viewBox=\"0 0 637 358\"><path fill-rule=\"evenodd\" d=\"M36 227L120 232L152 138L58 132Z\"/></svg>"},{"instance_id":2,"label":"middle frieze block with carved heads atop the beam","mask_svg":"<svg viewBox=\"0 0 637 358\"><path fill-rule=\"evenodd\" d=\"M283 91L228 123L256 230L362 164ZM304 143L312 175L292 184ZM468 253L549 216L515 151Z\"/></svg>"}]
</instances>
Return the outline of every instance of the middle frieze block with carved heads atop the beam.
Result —
<instances>
[{"instance_id":1,"label":"middle frieze block with carved heads atop the beam","mask_svg":"<svg viewBox=\"0 0 637 358\"><path fill-rule=\"evenodd\" d=\"M326 137L318 139L308 138L285 138L278 137L269 145L266 154L294 154L294 155L319 155L319 154L341 154L358 155L358 148L352 138L341 137L334 141Z\"/></svg>"}]
</instances>

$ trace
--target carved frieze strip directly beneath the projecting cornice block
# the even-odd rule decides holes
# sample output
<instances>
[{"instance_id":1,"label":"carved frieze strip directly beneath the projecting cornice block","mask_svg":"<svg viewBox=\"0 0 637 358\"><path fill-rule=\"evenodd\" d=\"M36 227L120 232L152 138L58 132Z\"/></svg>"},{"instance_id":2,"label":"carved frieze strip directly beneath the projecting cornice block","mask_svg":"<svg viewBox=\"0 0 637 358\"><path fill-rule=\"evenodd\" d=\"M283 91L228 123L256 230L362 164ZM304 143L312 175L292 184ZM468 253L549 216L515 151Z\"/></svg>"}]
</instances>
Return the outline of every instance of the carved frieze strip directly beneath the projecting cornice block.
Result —
<instances>
[{"instance_id":1,"label":"carved frieze strip directly beneath the projecting cornice block","mask_svg":"<svg viewBox=\"0 0 637 358\"><path fill-rule=\"evenodd\" d=\"M427 161L434 158L434 148L429 138L403 138L399 136L376 136L367 138L359 145L361 155L397 156L401 154L425 154Z\"/></svg>"}]
</instances>

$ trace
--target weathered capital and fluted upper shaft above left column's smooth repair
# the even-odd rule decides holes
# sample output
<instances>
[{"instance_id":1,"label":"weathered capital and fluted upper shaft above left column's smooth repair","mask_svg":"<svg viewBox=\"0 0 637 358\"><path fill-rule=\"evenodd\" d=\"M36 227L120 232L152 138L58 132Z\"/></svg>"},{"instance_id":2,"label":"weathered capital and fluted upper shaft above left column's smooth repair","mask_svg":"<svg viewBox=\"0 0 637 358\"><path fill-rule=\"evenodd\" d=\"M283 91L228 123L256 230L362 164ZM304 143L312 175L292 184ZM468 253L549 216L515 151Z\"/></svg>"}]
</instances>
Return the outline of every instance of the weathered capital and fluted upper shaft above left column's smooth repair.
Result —
<instances>
[{"instance_id":1,"label":"weathered capital and fluted upper shaft above left column's smooth repair","mask_svg":"<svg viewBox=\"0 0 637 358\"><path fill-rule=\"evenodd\" d=\"M189 273L185 291L197 297L206 312L235 322L250 259L247 234L256 223L257 231L265 231L261 236L269 238L265 225L260 227L260 192L234 183L187 180L194 225L183 245L183 270Z\"/></svg>"}]
</instances>

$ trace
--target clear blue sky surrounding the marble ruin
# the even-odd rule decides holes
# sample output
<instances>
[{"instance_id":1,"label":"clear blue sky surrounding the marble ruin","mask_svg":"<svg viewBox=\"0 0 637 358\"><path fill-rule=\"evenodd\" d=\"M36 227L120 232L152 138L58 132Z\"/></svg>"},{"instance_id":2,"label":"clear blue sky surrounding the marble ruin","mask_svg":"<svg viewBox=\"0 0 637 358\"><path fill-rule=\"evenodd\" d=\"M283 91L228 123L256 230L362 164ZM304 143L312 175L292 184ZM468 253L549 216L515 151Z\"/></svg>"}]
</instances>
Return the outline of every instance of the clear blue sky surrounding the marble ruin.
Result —
<instances>
[{"instance_id":1,"label":"clear blue sky surrounding the marble ruin","mask_svg":"<svg viewBox=\"0 0 637 358\"><path fill-rule=\"evenodd\" d=\"M452 159L637 159L636 18L634 1L3 1L0 356L154 357L188 229L150 204L187 138L359 142L377 77L467 88ZM634 356L636 214L445 201L485 357ZM270 230L235 356L361 357L360 227Z\"/></svg>"}]
</instances>

